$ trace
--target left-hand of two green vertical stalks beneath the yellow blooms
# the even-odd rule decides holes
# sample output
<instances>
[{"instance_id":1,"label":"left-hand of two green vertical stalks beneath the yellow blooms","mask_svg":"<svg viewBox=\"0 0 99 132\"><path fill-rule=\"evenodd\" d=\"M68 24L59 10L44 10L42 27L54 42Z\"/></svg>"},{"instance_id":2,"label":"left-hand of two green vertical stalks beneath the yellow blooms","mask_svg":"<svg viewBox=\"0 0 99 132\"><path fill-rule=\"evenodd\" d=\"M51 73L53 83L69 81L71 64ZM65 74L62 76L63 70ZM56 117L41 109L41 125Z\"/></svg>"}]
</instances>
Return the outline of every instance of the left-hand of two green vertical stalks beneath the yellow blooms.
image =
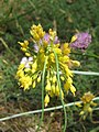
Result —
<instances>
[{"instance_id":1,"label":"left-hand of two green vertical stalks beneath the yellow blooms","mask_svg":"<svg viewBox=\"0 0 99 132\"><path fill-rule=\"evenodd\" d=\"M36 132L40 130L41 123L43 122L44 119L44 80L45 80L45 72L46 72L46 62L47 62L47 57L45 58L44 68L42 73L42 117Z\"/></svg>"}]
</instances>

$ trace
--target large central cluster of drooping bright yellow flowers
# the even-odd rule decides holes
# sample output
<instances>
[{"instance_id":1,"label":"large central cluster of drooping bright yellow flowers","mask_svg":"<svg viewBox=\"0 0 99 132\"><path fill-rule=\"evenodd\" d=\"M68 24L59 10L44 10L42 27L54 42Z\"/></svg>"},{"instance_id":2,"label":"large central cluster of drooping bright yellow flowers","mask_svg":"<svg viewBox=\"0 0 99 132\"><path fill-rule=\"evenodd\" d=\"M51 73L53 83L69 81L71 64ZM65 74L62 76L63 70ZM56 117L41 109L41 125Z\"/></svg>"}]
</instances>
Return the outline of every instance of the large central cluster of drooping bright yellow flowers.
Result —
<instances>
[{"instance_id":1,"label":"large central cluster of drooping bright yellow flowers","mask_svg":"<svg viewBox=\"0 0 99 132\"><path fill-rule=\"evenodd\" d=\"M26 56L22 58L16 72L20 86L24 90L30 87L35 88L36 84L42 79L44 62L46 61L45 107L53 96L59 97L62 95L64 99L64 92L69 90L75 96L76 88L73 85L73 73L69 68L80 64L77 61L70 59L69 43L61 44L56 32L50 29L48 33L45 33L41 24L32 25L30 33L32 35L32 47L30 47L29 41L19 42L21 50ZM54 53L56 53L58 58L61 81L63 81L64 88L58 86Z\"/></svg>"}]
</instances>

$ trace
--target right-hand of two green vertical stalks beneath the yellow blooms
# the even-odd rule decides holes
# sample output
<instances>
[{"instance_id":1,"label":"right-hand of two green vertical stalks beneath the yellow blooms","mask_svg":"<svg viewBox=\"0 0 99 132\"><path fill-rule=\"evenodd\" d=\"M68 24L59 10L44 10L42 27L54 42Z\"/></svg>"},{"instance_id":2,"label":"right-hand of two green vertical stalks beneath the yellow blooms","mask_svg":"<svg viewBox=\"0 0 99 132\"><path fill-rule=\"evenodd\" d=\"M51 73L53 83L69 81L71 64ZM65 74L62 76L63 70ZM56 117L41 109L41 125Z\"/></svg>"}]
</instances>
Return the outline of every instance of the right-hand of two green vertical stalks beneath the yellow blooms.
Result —
<instances>
[{"instance_id":1,"label":"right-hand of two green vertical stalks beneath the yellow blooms","mask_svg":"<svg viewBox=\"0 0 99 132\"><path fill-rule=\"evenodd\" d=\"M61 96L61 101L62 101L62 105L63 105L63 109L64 109L64 118L65 118L65 124L64 124L64 132L66 132L66 127L67 127L67 114L66 114L66 108L65 108L65 105L64 105L64 100L62 98L62 92L61 92L61 79L59 79L59 66L58 66L58 58L57 58L57 54L54 52L54 55L55 55L55 62L56 62L56 70L57 70L57 80L58 80L58 87L59 87L59 96Z\"/></svg>"}]
</instances>

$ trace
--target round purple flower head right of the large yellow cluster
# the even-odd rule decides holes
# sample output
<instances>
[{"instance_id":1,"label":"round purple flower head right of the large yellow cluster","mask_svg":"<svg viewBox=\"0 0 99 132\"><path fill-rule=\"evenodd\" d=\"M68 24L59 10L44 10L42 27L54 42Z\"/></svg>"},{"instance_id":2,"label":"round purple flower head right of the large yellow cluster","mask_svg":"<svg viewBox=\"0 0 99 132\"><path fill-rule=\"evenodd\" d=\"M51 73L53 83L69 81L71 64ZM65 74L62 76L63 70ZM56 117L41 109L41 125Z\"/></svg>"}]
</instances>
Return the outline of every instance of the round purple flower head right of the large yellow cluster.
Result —
<instances>
[{"instance_id":1,"label":"round purple flower head right of the large yellow cluster","mask_svg":"<svg viewBox=\"0 0 99 132\"><path fill-rule=\"evenodd\" d=\"M77 33L77 40L70 44L73 48L86 50L91 43L91 35L88 33Z\"/></svg>"}]
</instances>

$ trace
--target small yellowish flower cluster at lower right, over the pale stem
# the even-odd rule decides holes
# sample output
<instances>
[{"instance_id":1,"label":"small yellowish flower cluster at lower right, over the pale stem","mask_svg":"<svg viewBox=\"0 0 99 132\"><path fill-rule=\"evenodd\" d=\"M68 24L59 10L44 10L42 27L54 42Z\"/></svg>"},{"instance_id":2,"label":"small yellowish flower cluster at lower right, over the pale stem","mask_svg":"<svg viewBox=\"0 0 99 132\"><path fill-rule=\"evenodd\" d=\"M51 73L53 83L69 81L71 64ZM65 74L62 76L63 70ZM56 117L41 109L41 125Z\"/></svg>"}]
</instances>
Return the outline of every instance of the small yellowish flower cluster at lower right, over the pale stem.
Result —
<instances>
[{"instance_id":1,"label":"small yellowish flower cluster at lower right, over the pale stem","mask_svg":"<svg viewBox=\"0 0 99 132\"><path fill-rule=\"evenodd\" d=\"M88 113L92 113L92 107L97 106L97 103L92 101L94 98L95 96L90 91L88 91L81 98L82 106L78 105L78 107L82 108L79 114L82 117L84 120L86 119Z\"/></svg>"}]
</instances>

